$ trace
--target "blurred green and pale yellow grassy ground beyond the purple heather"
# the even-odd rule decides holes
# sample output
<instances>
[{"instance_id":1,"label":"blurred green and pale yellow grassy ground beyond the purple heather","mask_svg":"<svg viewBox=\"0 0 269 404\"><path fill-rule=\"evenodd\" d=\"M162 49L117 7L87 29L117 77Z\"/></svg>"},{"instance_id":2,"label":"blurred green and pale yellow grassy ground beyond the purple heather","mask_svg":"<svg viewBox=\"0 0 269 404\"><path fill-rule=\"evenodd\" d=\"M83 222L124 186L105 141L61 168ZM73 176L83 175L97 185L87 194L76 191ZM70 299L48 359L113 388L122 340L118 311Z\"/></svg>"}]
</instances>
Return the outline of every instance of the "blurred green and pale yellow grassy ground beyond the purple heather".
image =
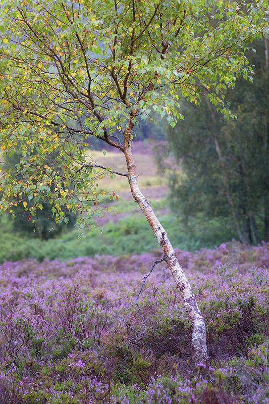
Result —
<instances>
[{"instance_id":1,"label":"blurred green and pale yellow grassy ground beyond the purple heather","mask_svg":"<svg viewBox=\"0 0 269 404\"><path fill-rule=\"evenodd\" d=\"M102 151L91 150L89 156L91 156L88 157L89 161L98 161L98 164L125 172L125 158L120 152L106 151L104 155ZM225 218L207 220L202 215L197 215L186 227L181 218L175 217L170 212L167 177L158 174L153 153L151 151L147 154L135 153L135 160L140 187L175 247L189 251L201 247L211 248L236 236ZM96 219L93 222L96 227L102 224L102 229L86 231L84 238L81 239L78 239L79 232L74 229L69 230L67 234L63 232L57 238L41 241L34 237L34 234L17 234L12 228L11 220L2 216L0 262L29 257L36 258L40 262L43 259L56 258L66 261L82 256L92 257L96 254L113 256L142 254L151 248L158 248L146 219L131 196L127 178L118 176L111 180L107 176L100 181L100 187L118 193L120 198L113 203L108 197L104 200L105 205L112 208L112 211L106 215L105 221Z\"/></svg>"}]
</instances>

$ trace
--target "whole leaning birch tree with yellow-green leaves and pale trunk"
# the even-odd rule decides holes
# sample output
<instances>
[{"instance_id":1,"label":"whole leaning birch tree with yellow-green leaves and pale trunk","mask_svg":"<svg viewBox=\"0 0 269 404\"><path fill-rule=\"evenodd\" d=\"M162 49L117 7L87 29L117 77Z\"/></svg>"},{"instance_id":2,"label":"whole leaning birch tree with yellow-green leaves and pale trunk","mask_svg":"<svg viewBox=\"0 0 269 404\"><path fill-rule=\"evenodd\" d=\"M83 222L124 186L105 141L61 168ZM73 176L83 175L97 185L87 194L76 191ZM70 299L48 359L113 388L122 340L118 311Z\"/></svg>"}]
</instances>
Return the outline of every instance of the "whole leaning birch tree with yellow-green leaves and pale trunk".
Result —
<instances>
[{"instance_id":1,"label":"whole leaning birch tree with yellow-green leaves and pale trunk","mask_svg":"<svg viewBox=\"0 0 269 404\"><path fill-rule=\"evenodd\" d=\"M151 111L172 127L178 93L206 89L227 114L222 90L248 76L246 43L266 27L267 2L211 0L1 0L1 148L22 158L1 176L2 211L21 198L29 220L44 201L66 212L98 212L98 180L127 177L163 250L193 324L196 363L206 358L205 324L166 230L137 183L134 126ZM119 149L126 172L90 161L97 138ZM56 161L49 156L57 150ZM46 163L45 163L46 162ZM111 195L113 196L113 195Z\"/></svg>"}]
</instances>

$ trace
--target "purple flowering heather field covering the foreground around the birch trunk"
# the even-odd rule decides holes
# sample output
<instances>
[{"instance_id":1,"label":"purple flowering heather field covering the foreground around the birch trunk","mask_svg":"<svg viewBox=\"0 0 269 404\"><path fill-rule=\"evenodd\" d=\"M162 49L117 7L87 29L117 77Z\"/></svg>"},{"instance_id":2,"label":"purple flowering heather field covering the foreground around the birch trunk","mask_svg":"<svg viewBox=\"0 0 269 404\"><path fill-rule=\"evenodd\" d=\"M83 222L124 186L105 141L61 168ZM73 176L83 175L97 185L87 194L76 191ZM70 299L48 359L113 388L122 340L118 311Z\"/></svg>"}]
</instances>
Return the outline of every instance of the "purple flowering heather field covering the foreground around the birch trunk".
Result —
<instances>
[{"instance_id":1,"label":"purple flowering heather field covering the foreground around the birch trunk","mask_svg":"<svg viewBox=\"0 0 269 404\"><path fill-rule=\"evenodd\" d=\"M1 404L265 404L269 244L233 241L177 256L207 326L194 367L191 325L160 258L35 259L1 266Z\"/></svg>"}]
</instances>

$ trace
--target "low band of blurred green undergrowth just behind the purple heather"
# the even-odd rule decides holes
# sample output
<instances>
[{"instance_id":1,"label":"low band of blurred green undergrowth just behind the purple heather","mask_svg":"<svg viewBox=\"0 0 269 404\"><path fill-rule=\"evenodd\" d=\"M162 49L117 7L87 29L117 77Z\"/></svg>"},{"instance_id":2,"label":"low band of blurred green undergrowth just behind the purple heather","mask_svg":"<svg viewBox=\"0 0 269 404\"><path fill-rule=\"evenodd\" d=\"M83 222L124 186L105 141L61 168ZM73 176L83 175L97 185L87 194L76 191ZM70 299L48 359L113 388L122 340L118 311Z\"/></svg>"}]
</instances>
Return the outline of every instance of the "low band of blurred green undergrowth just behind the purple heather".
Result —
<instances>
[{"instance_id":1,"label":"low band of blurred green undergrowth just behind the purple heather","mask_svg":"<svg viewBox=\"0 0 269 404\"><path fill-rule=\"evenodd\" d=\"M166 226L171 241L175 246L194 251L201 247L213 247L216 243L232 239L235 234L218 220L198 218L191 221L191 231L181 231L182 221L169 214L160 216ZM30 234L18 235L14 232L8 217L2 216L0 221L3 228L0 234L0 263L17 261L24 258L35 258L67 261L72 258L110 254L112 256L141 254L156 248L157 243L145 219L139 214L111 221L102 229L95 228L78 238L79 231L72 230L56 236L53 239L41 241ZM4 231L5 229L5 231ZM64 229L65 230L65 229Z\"/></svg>"}]
</instances>

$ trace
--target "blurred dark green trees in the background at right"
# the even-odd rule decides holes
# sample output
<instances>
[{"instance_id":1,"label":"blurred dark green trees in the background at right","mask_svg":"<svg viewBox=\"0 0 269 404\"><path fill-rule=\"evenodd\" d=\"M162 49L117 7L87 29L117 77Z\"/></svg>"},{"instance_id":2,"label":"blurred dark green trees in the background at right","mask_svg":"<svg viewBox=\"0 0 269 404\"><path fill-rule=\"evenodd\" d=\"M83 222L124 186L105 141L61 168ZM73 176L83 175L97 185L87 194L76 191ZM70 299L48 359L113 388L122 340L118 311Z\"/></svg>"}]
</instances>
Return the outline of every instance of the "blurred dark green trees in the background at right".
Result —
<instances>
[{"instance_id":1,"label":"blurred dark green trees in the background at right","mask_svg":"<svg viewBox=\"0 0 269 404\"><path fill-rule=\"evenodd\" d=\"M200 107L185 104L185 120L168 139L186 173L171 177L173 209L186 219L224 217L241 242L257 244L269 231L267 39L252 46L254 83L239 79L226 96L237 119L224 120L203 98Z\"/></svg>"}]
</instances>

